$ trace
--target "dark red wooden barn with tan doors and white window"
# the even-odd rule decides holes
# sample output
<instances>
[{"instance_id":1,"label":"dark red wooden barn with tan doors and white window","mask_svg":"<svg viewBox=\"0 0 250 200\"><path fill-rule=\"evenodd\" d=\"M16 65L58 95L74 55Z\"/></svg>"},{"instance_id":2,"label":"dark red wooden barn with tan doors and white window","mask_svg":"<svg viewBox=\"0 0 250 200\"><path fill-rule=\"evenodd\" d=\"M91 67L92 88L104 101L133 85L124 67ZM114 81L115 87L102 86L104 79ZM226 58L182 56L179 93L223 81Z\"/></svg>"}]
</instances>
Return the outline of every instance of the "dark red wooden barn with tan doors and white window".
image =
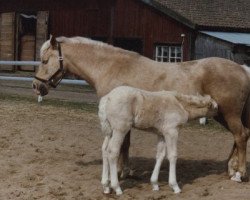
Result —
<instances>
[{"instance_id":1,"label":"dark red wooden barn with tan doors and white window","mask_svg":"<svg viewBox=\"0 0 250 200\"><path fill-rule=\"evenodd\" d=\"M85 36L158 61L192 58L194 24L151 0L0 0L0 13L0 60L38 60L49 34Z\"/></svg>"}]
</instances>

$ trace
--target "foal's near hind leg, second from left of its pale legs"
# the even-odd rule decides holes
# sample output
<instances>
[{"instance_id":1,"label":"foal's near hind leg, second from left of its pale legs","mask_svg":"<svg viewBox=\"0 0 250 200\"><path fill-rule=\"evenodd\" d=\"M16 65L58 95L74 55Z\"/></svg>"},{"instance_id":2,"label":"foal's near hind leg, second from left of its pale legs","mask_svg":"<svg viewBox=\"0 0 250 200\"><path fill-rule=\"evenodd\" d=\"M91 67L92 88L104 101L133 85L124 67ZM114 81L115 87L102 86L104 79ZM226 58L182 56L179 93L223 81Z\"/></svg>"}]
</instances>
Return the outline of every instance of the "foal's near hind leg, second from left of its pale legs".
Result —
<instances>
[{"instance_id":1,"label":"foal's near hind leg, second from left of its pale legs","mask_svg":"<svg viewBox=\"0 0 250 200\"><path fill-rule=\"evenodd\" d=\"M122 190L118 181L117 162L124 137L124 133L114 130L108 145L111 187L116 192L116 195L122 194Z\"/></svg>"}]
</instances>

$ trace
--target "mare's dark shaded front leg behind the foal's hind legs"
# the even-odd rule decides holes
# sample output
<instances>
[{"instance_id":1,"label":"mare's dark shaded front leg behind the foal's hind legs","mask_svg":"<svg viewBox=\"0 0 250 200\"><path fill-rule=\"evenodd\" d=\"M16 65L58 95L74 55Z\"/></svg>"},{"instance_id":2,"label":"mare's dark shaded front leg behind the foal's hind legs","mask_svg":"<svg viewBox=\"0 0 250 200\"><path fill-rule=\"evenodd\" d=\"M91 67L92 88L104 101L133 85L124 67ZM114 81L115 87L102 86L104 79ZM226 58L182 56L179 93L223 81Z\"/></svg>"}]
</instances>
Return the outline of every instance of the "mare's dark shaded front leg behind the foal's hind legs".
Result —
<instances>
[{"instance_id":1,"label":"mare's dark shaded front leg behind the foal's hind legs","mask_svg":"<svg viewBox=\"0 0 250 200\"><path fill-rule=\"evenodd\" d=\"M129 168L130 132L131 131L129 131L124 138L118 160L118 172L121 178L126 178L130 173L130 168Z\"/></svg>"}]
</instances>

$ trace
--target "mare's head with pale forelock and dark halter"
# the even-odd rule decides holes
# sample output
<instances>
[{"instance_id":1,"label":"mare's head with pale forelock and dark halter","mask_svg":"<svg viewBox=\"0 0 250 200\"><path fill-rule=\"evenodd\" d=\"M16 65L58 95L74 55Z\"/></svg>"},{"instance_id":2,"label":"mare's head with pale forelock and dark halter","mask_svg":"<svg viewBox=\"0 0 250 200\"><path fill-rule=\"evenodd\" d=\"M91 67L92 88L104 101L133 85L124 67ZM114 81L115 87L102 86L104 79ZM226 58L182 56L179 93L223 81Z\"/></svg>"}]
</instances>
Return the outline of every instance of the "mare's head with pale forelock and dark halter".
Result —
<instances>
[{"instance_id":1,"label":"mare's head with pale forelock and dark halter","mask_svg":"<svg viewBox=\"0 0 250 200\"><path fill-rule=\"evenodd\" d=\"M41 64L33 80L32 87L37 95L45 96L50 87L56 87L63 78L66 68L61 45L55 37L46 41L40 51Z\"/></svg>"}]
</instances>

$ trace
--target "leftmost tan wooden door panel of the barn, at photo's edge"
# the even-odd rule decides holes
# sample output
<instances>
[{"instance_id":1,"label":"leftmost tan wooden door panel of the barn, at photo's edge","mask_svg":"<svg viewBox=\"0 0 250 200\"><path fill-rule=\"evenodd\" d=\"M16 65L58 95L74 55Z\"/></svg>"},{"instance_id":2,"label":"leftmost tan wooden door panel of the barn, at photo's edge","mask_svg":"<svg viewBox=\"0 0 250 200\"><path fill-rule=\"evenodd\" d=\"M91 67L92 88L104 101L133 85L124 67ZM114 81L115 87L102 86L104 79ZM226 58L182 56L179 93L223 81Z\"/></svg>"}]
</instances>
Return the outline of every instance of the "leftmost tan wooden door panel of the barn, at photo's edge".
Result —
<instances>
[{"instance_id":1,"label":"leftmost tan wooden door panel of the barn, at photo's edge","mask_svg":"<svg viewBox=\"0 0 250 200\"><path fill-rule=\"evenodd\" d=\"M15 13L0 14L0 60L14 60L15 57ZM14 70L14 66L0 66L1 70Z\"/></svg>"}]
</instances>

